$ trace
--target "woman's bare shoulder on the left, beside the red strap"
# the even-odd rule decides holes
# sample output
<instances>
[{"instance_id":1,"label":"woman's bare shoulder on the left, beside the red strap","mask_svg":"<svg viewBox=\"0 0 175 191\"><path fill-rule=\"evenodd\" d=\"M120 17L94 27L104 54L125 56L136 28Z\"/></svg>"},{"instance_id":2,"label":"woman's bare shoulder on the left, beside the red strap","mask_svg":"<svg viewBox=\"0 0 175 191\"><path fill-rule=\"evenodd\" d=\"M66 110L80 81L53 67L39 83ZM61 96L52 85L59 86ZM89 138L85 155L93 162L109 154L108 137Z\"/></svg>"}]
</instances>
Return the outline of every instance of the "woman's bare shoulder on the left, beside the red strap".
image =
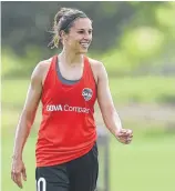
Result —
<instances>
[{"instance_id":1,"label":"woman's bare shoulder on the left, beside the red strap","mask_svg":"<svg viewBox=\"0 0 175 191\"><path fill-rule=\"evenodd\" d=\"M52 58L48 59L48 60L42 60L40 61L34 70L33 70L33 73L32 73L32 79L35 79L35 80L40 80L42 83L47 77L47 73L49 71L49 68L51 66L51 61L52 61Z\"/></svg>"}]
</instances>

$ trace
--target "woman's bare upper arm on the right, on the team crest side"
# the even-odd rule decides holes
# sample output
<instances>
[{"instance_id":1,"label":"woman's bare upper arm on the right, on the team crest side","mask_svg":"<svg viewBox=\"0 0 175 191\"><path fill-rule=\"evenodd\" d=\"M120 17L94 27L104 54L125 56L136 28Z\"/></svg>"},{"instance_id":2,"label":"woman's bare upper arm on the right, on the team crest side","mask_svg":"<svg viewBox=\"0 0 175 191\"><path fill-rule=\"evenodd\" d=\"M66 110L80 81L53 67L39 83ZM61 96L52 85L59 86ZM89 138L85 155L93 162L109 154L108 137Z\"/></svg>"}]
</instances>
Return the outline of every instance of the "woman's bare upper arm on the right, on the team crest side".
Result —
<instances>
[{"instance_id":1,"label":"woman's bare upper arm on the right, on the team crest side","mask_svg":"<svg viewBox=\"0 0 175 191\"><path fill-rule=\"evenodd\" d=\"M109 86L109 78L103 63L100 63L97 72L97 102L102 112L110 112L114 109L114 103Z\"/></svg>"}]
</instances>

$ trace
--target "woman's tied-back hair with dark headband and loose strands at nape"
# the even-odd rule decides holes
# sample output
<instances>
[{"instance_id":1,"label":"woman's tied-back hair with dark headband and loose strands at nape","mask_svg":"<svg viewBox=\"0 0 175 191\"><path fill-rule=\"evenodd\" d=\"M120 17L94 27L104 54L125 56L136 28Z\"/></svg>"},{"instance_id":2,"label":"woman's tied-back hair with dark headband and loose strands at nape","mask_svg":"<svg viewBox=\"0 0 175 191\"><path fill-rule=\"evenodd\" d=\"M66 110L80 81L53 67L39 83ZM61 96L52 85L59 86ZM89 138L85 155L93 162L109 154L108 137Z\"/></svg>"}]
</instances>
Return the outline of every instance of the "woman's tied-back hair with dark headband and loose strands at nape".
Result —
<instances>
[{"instance_id":1,"label":"woman's tied-back hair with dark headband and loose strands at nape","mask_svg":"<svg viewBox=\"0 0 175 191\"><path fill-rule=\"evenodd\" d=\"M78 18L87 18L87 16L78 9L72 8L61 8L59 12L54 16L52 33L52 41L49 43L51 48L58 48L61 46L62 39L60 32L63 30L69 33L70 28Z\"/></svg>"}]
</instances>

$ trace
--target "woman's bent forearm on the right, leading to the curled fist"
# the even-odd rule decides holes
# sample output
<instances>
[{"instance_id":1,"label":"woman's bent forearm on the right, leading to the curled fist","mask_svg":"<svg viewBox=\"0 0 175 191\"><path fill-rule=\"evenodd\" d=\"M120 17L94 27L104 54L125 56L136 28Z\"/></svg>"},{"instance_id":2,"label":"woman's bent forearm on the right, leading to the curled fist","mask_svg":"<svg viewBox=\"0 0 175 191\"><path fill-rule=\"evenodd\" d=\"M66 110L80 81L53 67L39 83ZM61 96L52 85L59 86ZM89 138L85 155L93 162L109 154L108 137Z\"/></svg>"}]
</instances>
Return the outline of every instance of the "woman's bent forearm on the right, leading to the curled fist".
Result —
<instances>
[{"instance_id":1,"label":"woman's bent forearm on the right, leading to the curled fist","mask_svg":"<svg viewBox=\"0 0 175 191\"><path fill-rule=\"evenodd\" d=\"M103 113L103 120L110 132L116 137L116 133L122 129L121 119L115 109L105 110Z\"/></svg>"}]
</instances>

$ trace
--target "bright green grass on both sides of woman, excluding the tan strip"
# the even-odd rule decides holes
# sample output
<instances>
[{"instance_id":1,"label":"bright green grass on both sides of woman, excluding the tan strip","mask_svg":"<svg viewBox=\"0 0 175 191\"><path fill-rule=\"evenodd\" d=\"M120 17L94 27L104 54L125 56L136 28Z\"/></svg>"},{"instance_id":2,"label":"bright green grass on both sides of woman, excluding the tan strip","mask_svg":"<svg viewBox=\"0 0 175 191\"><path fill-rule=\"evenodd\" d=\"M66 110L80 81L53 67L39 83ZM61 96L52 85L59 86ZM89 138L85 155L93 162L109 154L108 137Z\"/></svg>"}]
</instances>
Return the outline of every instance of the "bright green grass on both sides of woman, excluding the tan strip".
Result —
<instances>
[{"instance_id":1,"label":"bright green grass on both sides of woman, excluding the tan strip","mask_svg":"<svg viewBox=\"0 0 175 191\"><path fill-rule=\"evenodd\" d=\"M163 94L172 98L175 94L174 81L173 78L134 80L125 78L123 80L112 79L110 83L114 102L125 104L130 101L128 98L136 98L141 102L150 103L161 100ZM14 128L23 105L28 84L28 80L2 81L2 191L20 190L11 181L10 170ZM111 137L109 191L174 191L175 133L166 132L166 129L159 124L159 128L144 124L141 121L135 121L135 124L136 128L127 124L128 128L134 129L134 139L131 145L120 144ZM38 125L39 118L35 120L35 125L24 149L23 160L28 173L24 191L35 190L34 147ZM148 129L144 128L147 125ZM100 158L100 163L102 162L103 157ZM100 172L105 173L103 167ZM103 184L102 174L100 174L100 184Z\"/></svg>"}]
</instances>

